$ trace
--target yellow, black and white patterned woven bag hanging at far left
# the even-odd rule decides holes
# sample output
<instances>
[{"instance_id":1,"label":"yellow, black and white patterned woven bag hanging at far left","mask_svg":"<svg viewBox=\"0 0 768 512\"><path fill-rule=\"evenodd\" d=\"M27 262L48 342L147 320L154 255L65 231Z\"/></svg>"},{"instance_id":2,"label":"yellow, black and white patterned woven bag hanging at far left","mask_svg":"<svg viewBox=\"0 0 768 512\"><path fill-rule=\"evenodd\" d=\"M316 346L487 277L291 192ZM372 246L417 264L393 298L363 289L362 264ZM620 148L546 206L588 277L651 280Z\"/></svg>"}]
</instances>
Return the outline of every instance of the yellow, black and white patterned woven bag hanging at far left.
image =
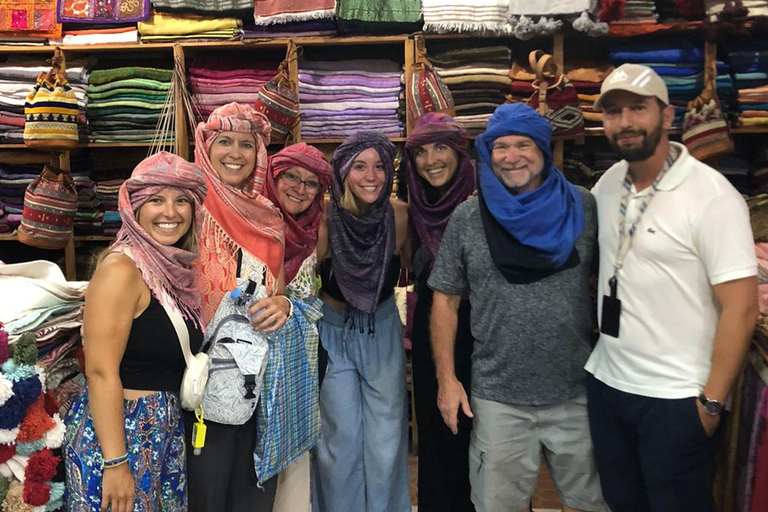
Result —
<instances>
[{"instance_id":1,"label":"yellow, black and white patterned woven bag hanging at far left","mask_svg":"<svg viewBox=\"0 0 768 512\"><path fill-rule=\"evenodd\" d=\"M38 149L72 149L78 144L77 98L67 83L64 53L56 48L51 70L41 73L24 103L24 144Z\"/></svg>"}]
</instances>

